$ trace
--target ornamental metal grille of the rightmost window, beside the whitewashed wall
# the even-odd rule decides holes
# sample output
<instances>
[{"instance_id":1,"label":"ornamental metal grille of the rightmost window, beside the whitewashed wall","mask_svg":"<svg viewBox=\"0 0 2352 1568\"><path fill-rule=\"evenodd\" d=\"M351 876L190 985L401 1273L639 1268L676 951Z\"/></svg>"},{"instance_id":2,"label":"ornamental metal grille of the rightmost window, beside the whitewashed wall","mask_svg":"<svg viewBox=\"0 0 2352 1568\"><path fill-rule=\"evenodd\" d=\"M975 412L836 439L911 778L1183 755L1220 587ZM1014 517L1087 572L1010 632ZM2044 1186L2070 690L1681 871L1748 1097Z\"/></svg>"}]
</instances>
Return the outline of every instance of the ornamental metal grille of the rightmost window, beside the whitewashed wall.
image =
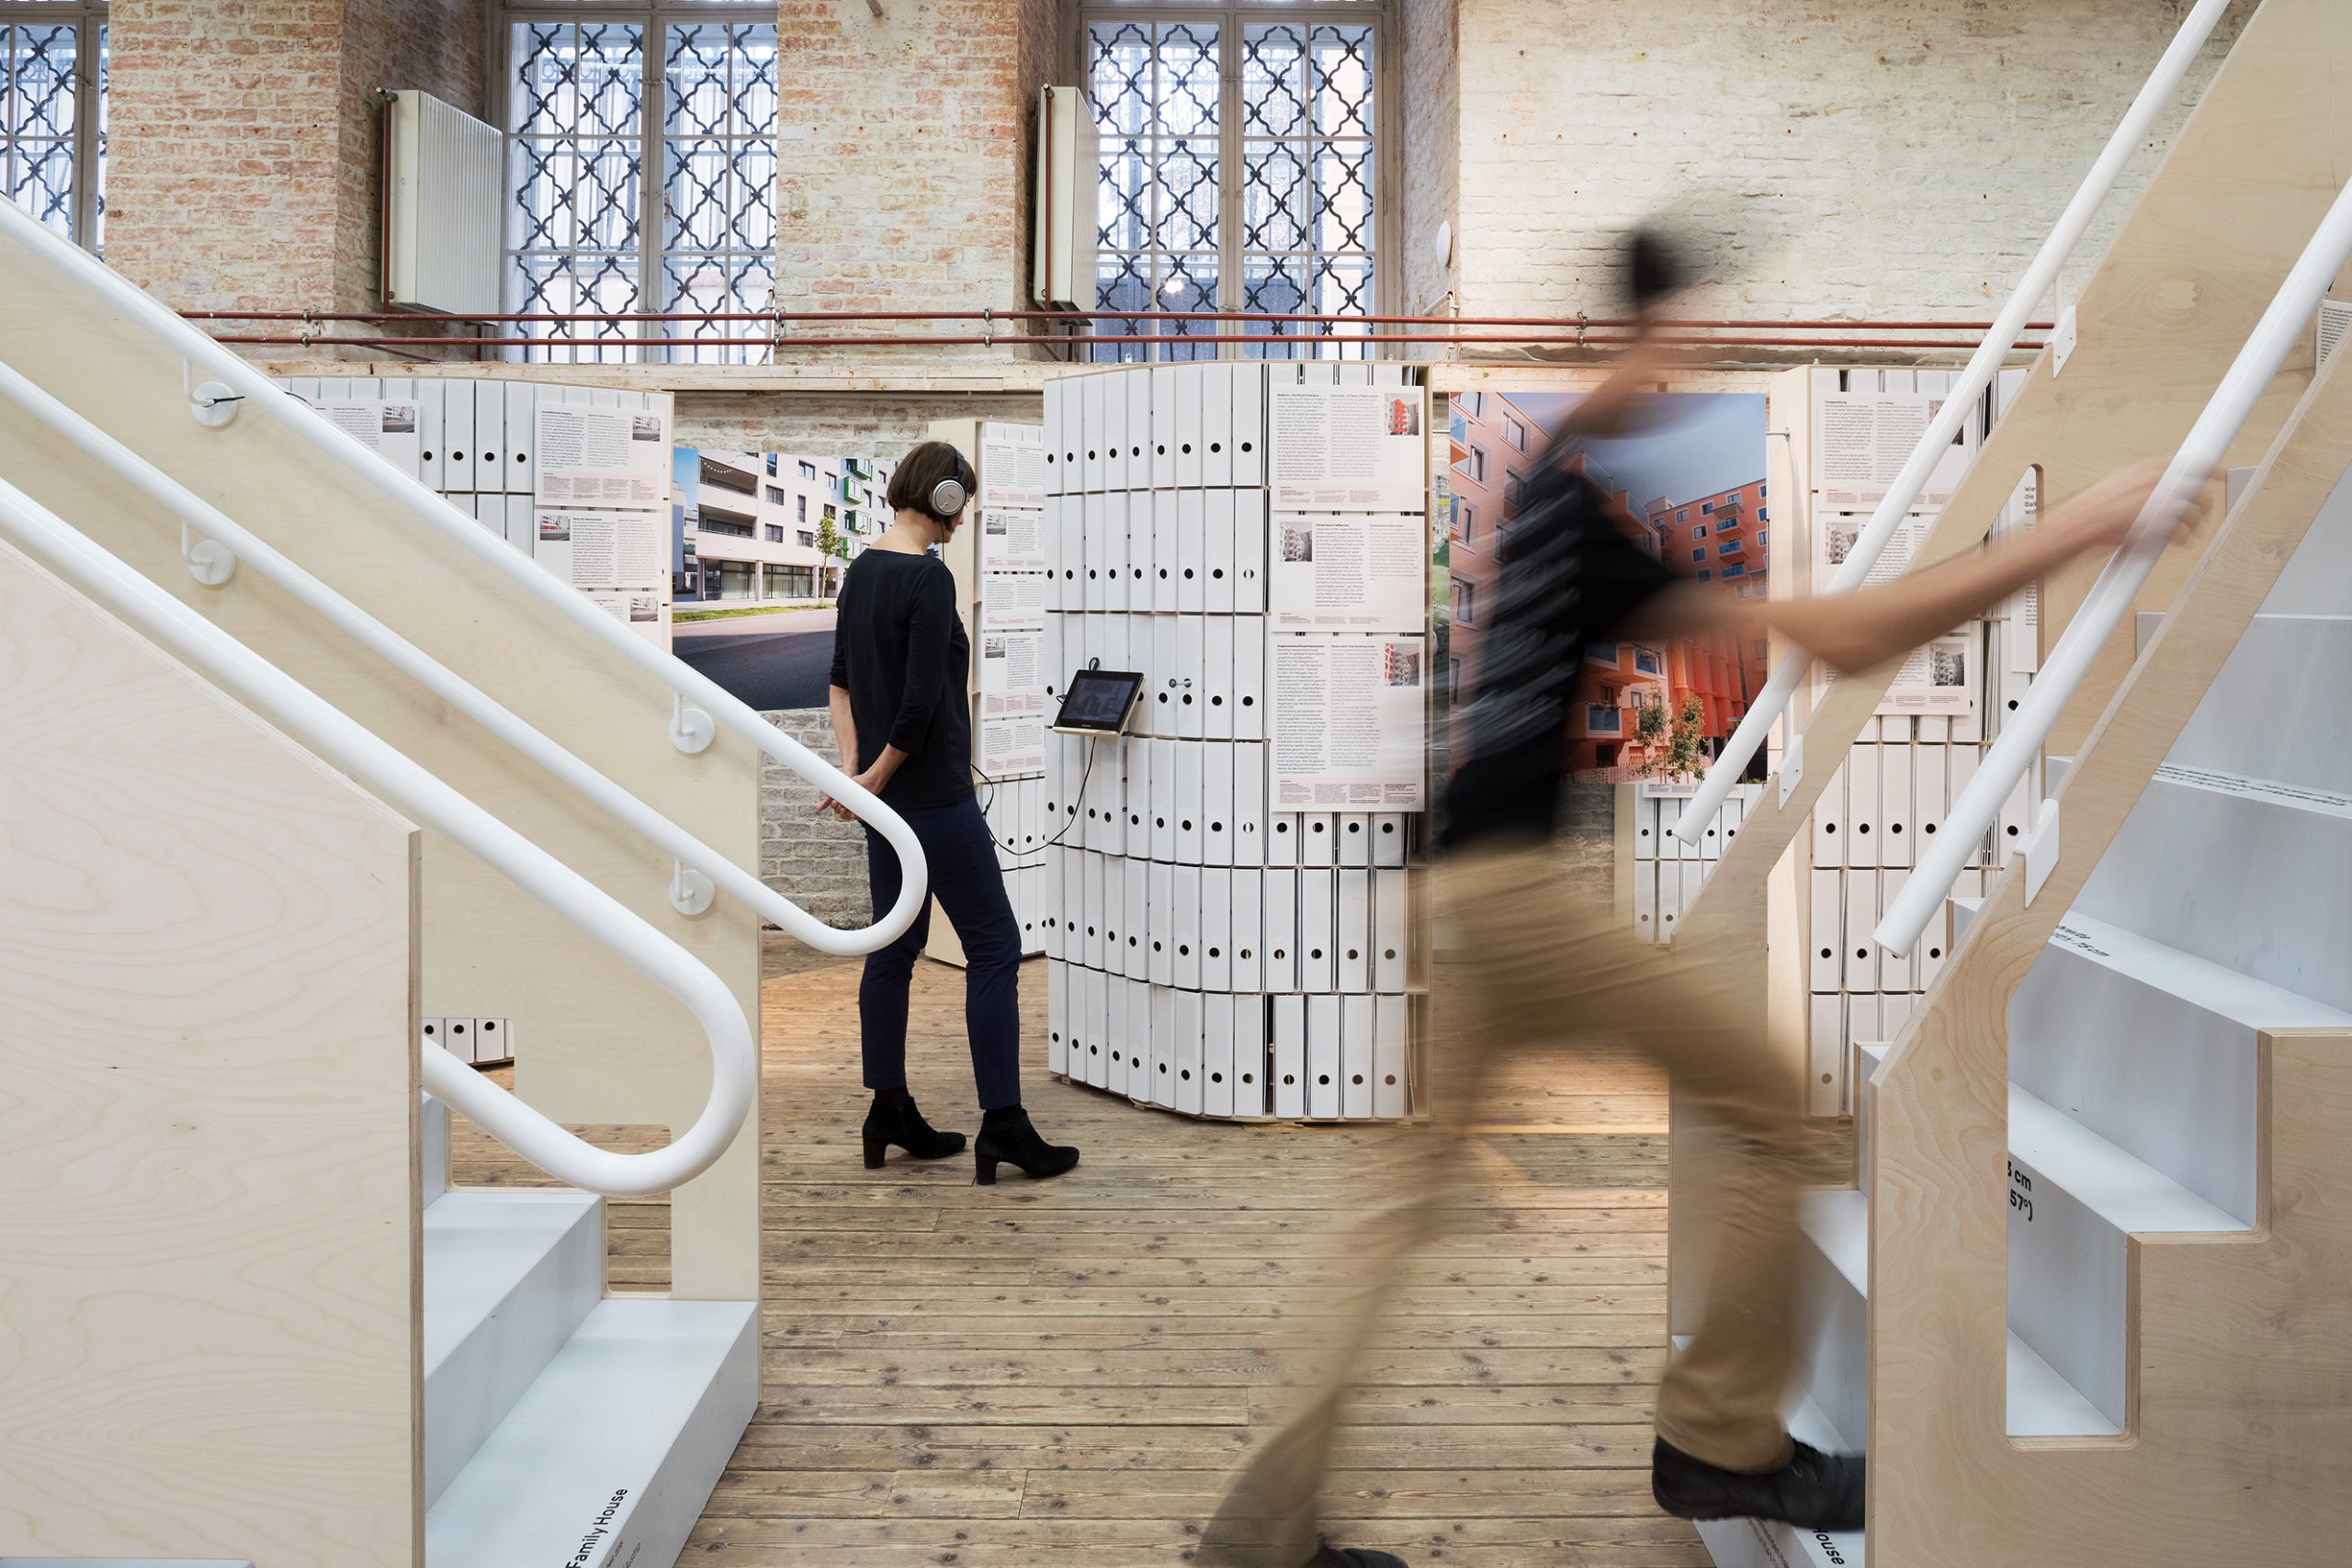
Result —
<instances>
[{"instance_id":1,"label":"ornamental metal grille of the rightmost window, beside the whitewashed wall","mask_svg":"<svg viewBox=\"0 0 2352 1568\"><path fill-rule=\"evenodd\" d=\"M1388 5L1098 5L1082 16L1101 132L1096 360L1367 357L1392 179ZM1162 322L1152 310L1237 310ZM1185 343L1247 336L1247 343Z\"/></svg>"}]
</instances>

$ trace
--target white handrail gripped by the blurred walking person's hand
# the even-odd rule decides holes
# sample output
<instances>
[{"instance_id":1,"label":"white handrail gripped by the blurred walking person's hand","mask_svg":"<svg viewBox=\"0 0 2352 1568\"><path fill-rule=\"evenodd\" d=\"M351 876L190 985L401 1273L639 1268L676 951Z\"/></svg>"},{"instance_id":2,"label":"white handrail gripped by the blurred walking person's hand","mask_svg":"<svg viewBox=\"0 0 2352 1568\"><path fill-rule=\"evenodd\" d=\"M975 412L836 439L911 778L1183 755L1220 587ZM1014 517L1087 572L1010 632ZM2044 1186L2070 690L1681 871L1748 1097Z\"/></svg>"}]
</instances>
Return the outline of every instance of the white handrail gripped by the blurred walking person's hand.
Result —
<instances>
[{"instance_id":1,"label":"white handrail gripped by the blurred walking person's hand","mask_svg":"<svg viewBox=\"0 0 2352 1568\"><path fill-rule=\"evenodd\" d=\"M2042 661L2042 672L2025 691L2025 701L2002 724L2002 736L1985 752L1976 778L1952 802L1943 830L1933 835L1931 846L1919 856L1917 870L1912 870L1903 891L1886 907L1886 917L1875 931L1882 947L1893 954L1907 954L1926 929L1926 922L1943 907L1945 893L1950 893L1952 882L1959 879L1959 872L1969 863L1969 851L1985 837L1985 830L1999 816L2002 802L2009 799L2009 792L2032 769L2042 743L2049 741L2051 726L2074 698L2098 651L2114 635L2114 628L2124 623L2124 616L2131 614L2133 599L2140 585L2147 583L2147 574L2154 571L2157 557L2164 555L2180 512L2194 505L2199 491L2220 470L2237 433L2253 416L2256 402L2260 402L2279 367L2286 364L2286 355L2310 331L2312 315L2319 310L2319 301L2345 261L2352 261L2352 186L2345 186L2336 195L2328 216L2319 223L2312 242L2303 249L2279 294L2270 301L2263 320L2239 350L2237 362L2230 364L2230 374L2213 390L2204 414L2197 416L2187 440L2180 442L2180 451L2166 465L2164 480L2147 498L2147 505L2140 508L2131 534L2098 574L2058 646ZM2058 804L2042 799L2025 846L2027 903L2042 889L2042 879L2049 875L2049 863L2056 856L2056 825Z\"/></svg>"}]
</instances>

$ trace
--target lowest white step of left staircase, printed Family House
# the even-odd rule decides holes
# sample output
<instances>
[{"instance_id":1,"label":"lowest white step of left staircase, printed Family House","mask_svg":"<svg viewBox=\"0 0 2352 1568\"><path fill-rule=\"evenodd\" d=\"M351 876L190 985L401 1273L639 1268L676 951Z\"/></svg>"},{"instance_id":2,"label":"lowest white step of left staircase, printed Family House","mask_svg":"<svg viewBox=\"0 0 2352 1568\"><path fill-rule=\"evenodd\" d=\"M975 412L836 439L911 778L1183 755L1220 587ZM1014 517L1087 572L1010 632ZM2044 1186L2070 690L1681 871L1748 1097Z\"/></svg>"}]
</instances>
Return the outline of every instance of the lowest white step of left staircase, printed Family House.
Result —
<instances>
[{"instance_id":1,"label":"lowest white step of left staircase, printed Family House","mask_svg":"<svg viewBox=\"0 0 2352 1568\"><path fill-rule=\"evenodd\" d=\"M604 1300L426 1514L426 1568L668 1568L757 1401L753 1302Z\"/></svg>"}]
</instances>

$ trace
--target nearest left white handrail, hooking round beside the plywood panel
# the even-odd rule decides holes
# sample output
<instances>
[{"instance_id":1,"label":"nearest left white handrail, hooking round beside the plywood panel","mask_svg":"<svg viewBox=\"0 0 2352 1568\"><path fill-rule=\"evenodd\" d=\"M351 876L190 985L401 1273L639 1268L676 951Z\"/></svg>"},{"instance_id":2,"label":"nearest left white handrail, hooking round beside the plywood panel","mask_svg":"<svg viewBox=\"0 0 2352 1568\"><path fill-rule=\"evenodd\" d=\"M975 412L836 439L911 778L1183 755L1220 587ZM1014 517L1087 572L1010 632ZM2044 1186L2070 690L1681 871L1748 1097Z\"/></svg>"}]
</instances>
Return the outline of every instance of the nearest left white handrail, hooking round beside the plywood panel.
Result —
<instances>
[{"instance_id":1,"label":"nearest left white handrail, hooking round beside the plywood panel","mask_svg":"<svg viewBox=\"0 0 2352 1568\"><path fill-rule=\"evenodd\" d=\"M433 1041L423 1041L428 1093L548 1175L607 1197L668 1192L727 1152L753 1105L760 1048L743 1006L706 964L5 480L0 534L397 811L447 835L602 943L682 1001L710 1041L710 1098L694 1126L649 1154L614 1154L581 1143Z\"/></svg>"}]
</instances>

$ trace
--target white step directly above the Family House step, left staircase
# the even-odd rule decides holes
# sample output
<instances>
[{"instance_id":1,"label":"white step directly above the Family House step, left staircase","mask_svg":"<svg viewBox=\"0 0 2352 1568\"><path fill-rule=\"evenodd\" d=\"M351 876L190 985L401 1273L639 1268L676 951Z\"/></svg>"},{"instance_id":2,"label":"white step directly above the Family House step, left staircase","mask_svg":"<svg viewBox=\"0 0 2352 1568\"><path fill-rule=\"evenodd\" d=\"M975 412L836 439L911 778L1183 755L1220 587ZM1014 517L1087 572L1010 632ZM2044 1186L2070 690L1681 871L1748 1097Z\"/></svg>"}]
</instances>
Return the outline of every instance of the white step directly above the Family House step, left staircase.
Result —
<instances>
[{"instance_id":1,"label":"white step directly above the Family House step, left staircase","mask_svg":"<svg viewBox=\"0 0 2352 1568\"><path fill-rule=\"evenodd\" d=\"M604 1293L586 1192L452 1192L423 1222L426 1507L473 1460Z\"/></svg>"}]
</instances>

